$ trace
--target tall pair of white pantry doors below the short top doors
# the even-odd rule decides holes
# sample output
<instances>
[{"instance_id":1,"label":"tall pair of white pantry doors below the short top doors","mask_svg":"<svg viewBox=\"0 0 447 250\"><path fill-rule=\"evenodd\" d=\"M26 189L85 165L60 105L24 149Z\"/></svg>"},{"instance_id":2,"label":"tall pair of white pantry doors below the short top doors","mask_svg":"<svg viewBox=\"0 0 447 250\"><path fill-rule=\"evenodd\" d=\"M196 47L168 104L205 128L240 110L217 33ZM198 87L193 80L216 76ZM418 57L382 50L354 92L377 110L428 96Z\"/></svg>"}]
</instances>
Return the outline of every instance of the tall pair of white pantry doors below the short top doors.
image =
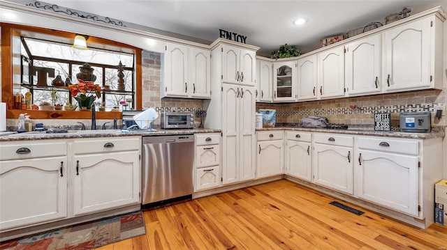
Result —
<instances>
[{"instance_id":1,"label":"tall pair of white pantry doors below the short top doors","mask_svg":"<svg viewBox=\"0 0 447 250\"><path fill-rule=\"evenodd\" d=\"M223 84L223 184L255 176L254 87Z\"/></svg>"}]
</instances>

